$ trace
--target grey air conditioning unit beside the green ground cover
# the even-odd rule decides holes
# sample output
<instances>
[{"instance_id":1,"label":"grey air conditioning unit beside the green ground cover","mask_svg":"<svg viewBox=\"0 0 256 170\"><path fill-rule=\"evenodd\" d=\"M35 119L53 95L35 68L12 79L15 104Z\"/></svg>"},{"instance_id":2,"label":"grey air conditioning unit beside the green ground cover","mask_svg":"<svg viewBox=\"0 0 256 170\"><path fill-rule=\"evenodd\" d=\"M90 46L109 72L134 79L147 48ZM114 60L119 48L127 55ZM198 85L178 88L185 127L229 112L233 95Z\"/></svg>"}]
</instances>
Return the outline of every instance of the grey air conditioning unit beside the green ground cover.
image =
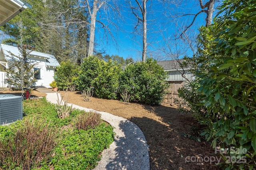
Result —
<instances>
[{"instance_id":1,"label":"grey air conditioning unit beside the green ground cover","mask_svg":"<svg viewBox=\"0 0 256 170\"><path fill-rule=\"evenodd\" d=\"M0 95L0 124L13 123L22 119L22 96Z\"/></svg>"}]
</instances>

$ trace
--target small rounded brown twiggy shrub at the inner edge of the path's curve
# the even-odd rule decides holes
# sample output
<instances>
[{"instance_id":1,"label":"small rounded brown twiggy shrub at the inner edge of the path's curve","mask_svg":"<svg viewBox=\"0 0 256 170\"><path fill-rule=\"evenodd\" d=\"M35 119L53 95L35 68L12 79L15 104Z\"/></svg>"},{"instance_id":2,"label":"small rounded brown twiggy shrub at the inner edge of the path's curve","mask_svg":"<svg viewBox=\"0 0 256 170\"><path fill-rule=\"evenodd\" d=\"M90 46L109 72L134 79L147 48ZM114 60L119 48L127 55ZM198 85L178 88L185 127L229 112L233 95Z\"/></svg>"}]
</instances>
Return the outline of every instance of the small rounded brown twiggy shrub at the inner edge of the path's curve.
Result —
<instances>
[{"instance_id":1,"label":"small rounded brown twiggy shrub at the inner edge of the path's curve","mask_svg":"<svg viewBox=\"0 0 256 170\"><path fill-rule=\"evenodd\" d=\"M75 119L75 126L77 129L87 130L89 128L94 129L101 123L100 113L82 113Z\"/></svg>"}]
</instances>

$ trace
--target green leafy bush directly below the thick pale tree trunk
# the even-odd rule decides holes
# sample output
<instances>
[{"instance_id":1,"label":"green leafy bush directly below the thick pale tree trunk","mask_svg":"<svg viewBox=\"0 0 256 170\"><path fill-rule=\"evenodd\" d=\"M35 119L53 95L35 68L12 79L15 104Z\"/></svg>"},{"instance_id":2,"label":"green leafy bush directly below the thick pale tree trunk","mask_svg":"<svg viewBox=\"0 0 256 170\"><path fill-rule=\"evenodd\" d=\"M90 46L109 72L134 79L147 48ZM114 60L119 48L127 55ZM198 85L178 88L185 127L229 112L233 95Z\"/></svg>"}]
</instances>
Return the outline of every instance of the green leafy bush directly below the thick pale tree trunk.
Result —
<instances>
[{"instance_id":1,"label":"green leafy bush directly below the thick pale tree trunk","mask_svg":"<svg viewBox=\"0 0 256 170\"><path fill-rule=\"evenodd\" d=\"M92 81L100 74L103 64L104 61L97 57L90 56L84 58L76 80L79 90L84 90L93 86Z\"/></svg>"}]
</instances>

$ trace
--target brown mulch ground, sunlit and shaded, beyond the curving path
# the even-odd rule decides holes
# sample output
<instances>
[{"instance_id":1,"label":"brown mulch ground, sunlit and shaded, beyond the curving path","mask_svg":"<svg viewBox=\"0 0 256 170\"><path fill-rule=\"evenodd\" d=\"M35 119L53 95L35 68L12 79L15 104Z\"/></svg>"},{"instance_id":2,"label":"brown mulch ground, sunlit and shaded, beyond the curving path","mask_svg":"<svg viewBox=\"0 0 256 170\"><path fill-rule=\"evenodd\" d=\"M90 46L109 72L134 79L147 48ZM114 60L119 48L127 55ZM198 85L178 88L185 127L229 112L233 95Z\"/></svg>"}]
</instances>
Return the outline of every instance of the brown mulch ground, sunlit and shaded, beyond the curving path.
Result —
<instances>
[{"instance_id":1,"label":"brown mulch ground, sunlit and shaded, beyond the curving path","mask_svg":"<svg viewBox=\"0 0 256 170\"><path fill-rule=\"evenodd\" d=\"M20 92L0 91L0 94ZM64 94L64 92L61 92ZM45 96L32 91L31 96ZM105 111L134 122L146 137L149 146L151 170L217 170L214 162L214 150L205 141L194 141L180 133L192 134L192 128L198 123L188 114L180 113L176 107L163 103L160 106L130 103L119 100L91 98L84 102L80 92L69 92L68 102L82 107ZM205 158L200 162L198 158Z\"/></svg>"}]
</instances>

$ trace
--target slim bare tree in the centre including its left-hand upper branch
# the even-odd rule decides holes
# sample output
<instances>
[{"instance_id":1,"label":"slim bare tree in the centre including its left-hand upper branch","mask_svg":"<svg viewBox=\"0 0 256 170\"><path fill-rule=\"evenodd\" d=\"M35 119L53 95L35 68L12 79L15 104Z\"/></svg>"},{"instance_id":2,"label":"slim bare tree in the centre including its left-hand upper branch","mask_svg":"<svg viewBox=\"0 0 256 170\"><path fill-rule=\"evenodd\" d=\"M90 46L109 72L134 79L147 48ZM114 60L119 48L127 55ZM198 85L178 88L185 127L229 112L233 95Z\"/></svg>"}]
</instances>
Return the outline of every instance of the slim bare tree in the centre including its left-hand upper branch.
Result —
<instances>
[{"instance_id":1,"label":"slim bare tree in the centre including its left-hand upper branch","mask_svg":"<svg viewBox=\"0 0 256 170\"><path fill-rule=\"evenodd\" d=\"M147 55L147 8L146 4L148 0L141 0L141 3L138 0L135 0L136 4L132 4L131 1L129 1L130 8L132 9L132 14L137 18L138 22L135 26L138 27L138 25L143 25L143 49L142 49L142 61L146 61L146 55Z\"/></svg>"}]
</instances>

